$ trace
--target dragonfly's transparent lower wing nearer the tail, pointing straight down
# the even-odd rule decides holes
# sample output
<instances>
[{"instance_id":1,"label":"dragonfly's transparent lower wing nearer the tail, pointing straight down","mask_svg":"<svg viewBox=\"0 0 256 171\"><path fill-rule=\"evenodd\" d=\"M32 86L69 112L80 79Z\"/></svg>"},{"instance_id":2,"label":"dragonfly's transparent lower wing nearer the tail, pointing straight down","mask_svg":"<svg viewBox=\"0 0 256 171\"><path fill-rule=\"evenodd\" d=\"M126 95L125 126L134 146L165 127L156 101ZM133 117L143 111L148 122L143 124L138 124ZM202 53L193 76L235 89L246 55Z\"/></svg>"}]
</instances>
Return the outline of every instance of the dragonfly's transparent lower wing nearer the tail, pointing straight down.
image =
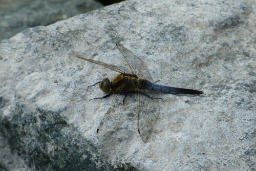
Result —
<instances>
[{"instance_id":1,"label":"dragonfly's transparent lower wing nearer the tail, pointing straight down","mask_svg":"<svg viewBox=\"0 0 256 171\"><path fill-rule=\"evenodd\" d=\"M136 91L138 131L143 142L148 141L160 112L160 99L152 99L147 95L157 97L155 92L149 94L148 91Z\"/></svg>"}]
</instances>

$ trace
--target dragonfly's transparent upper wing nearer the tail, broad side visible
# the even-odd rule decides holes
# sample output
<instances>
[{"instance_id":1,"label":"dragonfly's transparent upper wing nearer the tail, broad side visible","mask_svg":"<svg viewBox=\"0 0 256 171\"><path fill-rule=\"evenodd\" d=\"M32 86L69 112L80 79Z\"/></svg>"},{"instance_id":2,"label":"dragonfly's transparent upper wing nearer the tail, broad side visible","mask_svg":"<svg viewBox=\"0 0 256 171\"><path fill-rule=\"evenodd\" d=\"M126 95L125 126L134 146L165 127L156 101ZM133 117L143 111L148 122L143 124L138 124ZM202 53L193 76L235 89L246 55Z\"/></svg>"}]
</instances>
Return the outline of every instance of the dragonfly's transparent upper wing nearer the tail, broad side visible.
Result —
<instances>
[{"instance_id":1,"label":"dragonfly's transparent upper wing nearer the tail, broad side visible","mask_svg":"<svg viewBox=\"0 0 256 171\"><path fill-rule=\"evenodd\" d=\"M147 69L144 62L138 56L136 56L130 50L124 48L121 44L116 44L116 46L122 54L124 60L129 65L133 74L137 75L140 79L147 79L154 82L150 71Z\"/></svg>"}]
</instances>

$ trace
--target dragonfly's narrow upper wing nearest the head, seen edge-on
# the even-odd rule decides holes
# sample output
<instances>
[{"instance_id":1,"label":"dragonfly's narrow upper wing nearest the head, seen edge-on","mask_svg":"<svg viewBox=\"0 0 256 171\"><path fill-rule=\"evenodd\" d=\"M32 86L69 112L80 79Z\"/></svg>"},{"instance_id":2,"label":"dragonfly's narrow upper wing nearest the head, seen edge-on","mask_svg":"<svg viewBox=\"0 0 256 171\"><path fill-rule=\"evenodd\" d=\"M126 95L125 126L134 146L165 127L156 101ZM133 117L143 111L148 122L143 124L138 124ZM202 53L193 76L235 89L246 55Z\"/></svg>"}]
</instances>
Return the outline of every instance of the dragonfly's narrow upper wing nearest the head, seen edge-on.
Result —
<instances>
[{"instance_id":1,"label":"dragonfly's narrow upper wing nearest the head, seen edge-on","mask_svg":"<svg viewBox=\"0 0 256 171\"><path fill-rule=\"evenodd\" d=\"M119 73L130 73L130 70L125 68L125 67L111 65L109 63L101 62L101 61L98 61L98 60L87 59L87 58L83 57L82 55L76 55L76 57L78 57L80 59L83 59L83 60L87 60L87 61L96 63L97 65L100 65L102 67L111 69L111 70L119 72Z\"/></svg>"}]
</instances>

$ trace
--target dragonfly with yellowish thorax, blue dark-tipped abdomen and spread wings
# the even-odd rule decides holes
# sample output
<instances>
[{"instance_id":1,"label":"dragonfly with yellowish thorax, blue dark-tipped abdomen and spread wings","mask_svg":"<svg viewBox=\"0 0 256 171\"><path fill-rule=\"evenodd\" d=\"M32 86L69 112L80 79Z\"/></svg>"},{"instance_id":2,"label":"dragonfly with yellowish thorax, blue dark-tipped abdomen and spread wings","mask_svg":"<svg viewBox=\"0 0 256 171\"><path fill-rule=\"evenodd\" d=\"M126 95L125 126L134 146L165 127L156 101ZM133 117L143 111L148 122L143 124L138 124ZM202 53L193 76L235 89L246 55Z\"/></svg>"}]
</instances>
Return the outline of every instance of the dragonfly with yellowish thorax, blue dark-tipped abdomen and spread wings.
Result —
<instances>
[{"instance_id":1,"label":"dragonfly with yellowish thorax, blue dark-tipped abdomen and spread wings","mask_svg":"<svg viewBox=\"0 0 256 171\"><path fill-rule=\"evenodd\" d=\"M137 130L142 141L147 142L153 132L153 127L160 113L159 100L161 99L151 97L149 93L151 93L151 95L155 94L153 92L200 95L203 94L203 91L168 87L157 84L154 82L145 63L139 57L119 43L116 43L116 46L127 63L127 66L129 66L129 69L127 69L127 67L115 66L102 61L85 58L82 55L76 55L76 57L80 59L90 61L119 73L119 75L112 81L109 78L104 78L102 81L98 81L92 85L95 86L96 84L99 84L99 88L107 94L103 97L93 98L90 100L103 99L111 95L114 96L108 111L99 123L97 138L99 141L104 141L113 134L114 130L117 130L118 127L121 126L122 122L115 121L123 119L120 114L121 110L119 107L121 106L121 103L119 101L123 95L124 98L122 102L124 103L127 95L135 94L137 102L135 110Z\"/></svg>"}]
</instances>

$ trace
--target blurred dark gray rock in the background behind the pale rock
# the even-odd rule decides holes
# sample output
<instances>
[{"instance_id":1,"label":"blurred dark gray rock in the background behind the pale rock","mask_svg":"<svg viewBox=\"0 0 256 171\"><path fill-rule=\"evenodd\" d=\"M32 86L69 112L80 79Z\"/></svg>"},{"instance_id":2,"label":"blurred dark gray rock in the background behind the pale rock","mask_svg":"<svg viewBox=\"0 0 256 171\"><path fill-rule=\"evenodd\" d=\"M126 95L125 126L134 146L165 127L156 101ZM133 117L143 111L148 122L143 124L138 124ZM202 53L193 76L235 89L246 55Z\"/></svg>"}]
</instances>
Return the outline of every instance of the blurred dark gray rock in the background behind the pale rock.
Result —
<instances>
[{"instance_id":1,"label":"blurred dark gray rock in the background behind the pale rock","mask_svg":"<svg viewBox=\"0 0 256 171\"><path fill-rule=\"evenodd\" d=\"M47 26L101 7L103 6L94 0L2 0L0 41L30 27Z\"/></svg>"}]
</instances>

